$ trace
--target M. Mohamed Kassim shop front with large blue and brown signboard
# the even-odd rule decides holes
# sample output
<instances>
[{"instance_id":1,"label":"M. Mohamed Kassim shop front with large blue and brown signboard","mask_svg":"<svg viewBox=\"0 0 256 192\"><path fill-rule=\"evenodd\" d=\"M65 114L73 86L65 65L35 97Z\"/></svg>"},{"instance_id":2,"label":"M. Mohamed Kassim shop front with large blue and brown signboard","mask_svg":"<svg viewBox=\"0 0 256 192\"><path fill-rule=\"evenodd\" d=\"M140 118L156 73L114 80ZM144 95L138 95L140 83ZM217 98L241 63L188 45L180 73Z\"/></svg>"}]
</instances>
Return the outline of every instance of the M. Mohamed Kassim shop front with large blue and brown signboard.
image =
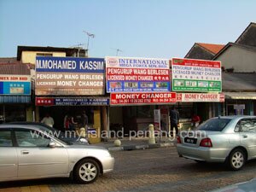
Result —
<instances>
[{"instance_id":1,"label":"M. Mohamed Kassim shop front with large blue and brown signboard","mask_svg":"<svg viewBox=\"0 0 256 192\"><path fill-rule=\"evenodd\" d=\"M96 136L90 138L90 143L100 142L102 131L108 129L109 99L104 96L104 72L104 60L100 58L38 56L37 121L50 115L55 128L63 131L84 128L86 137L94 130Z\"/></svg>"}]
</instances>

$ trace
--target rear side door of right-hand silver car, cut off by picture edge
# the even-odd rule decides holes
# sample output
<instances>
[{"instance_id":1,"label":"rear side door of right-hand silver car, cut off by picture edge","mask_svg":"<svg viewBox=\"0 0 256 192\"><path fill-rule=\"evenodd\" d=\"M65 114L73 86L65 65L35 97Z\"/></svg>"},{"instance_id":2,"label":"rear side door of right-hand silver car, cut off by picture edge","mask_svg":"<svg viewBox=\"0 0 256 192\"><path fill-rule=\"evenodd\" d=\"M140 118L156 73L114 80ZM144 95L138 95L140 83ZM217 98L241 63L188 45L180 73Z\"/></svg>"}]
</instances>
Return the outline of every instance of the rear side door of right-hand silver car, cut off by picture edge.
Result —
<instances>
[{"instance_id":1,"label":"rear side door of right-hand silver car, cut off by picture edge","mask_svg":"<svg viewBox=\"0 0 256 192\"><path fill-rule=\"evenodd\" d=\"M240 125L241 144L247 147L248 158L256 157L256 119L244 118L238 124Z\"/></svg>"}]
</instances>

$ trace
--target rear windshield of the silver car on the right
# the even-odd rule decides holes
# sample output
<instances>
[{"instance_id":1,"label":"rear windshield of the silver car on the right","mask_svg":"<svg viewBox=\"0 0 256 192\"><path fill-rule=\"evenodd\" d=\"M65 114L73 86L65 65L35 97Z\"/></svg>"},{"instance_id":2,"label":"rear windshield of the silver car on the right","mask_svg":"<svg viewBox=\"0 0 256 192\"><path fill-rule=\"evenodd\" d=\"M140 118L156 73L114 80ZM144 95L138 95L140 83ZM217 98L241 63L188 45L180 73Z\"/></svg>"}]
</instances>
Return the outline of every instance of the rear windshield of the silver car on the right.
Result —
<instances>
[{"instance_id":1,"label":"rear windshield of the silver car on the right","mask_svg":"<svg viewBox=\"0 0 256 192\"><path fill-rule=\"evenodd\" d=\"M205 123L198 126L201 131L223 131L224 127L230 123L231 119L208 119Z\"/></svg>"}]
</instances>

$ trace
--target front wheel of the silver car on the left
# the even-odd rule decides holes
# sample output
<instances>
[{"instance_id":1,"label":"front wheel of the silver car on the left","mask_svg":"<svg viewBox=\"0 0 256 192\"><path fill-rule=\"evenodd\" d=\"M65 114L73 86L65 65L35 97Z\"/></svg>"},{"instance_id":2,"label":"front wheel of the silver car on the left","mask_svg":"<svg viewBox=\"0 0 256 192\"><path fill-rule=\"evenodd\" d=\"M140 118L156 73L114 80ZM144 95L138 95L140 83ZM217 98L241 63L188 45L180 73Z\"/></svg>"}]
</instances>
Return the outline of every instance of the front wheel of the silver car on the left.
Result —
<instances>
[{"instance_id":1,"label":"front wheel of the silver car on the left","mask_svg":"<svg viewBox=\"0 0 256 192\"><path fill-rule=\"evenodd\" d=\"M93 183L99 177L100 166L95 160L81 160L74 169L74 177L78 183Z\"/></svg>"}]
</instances>

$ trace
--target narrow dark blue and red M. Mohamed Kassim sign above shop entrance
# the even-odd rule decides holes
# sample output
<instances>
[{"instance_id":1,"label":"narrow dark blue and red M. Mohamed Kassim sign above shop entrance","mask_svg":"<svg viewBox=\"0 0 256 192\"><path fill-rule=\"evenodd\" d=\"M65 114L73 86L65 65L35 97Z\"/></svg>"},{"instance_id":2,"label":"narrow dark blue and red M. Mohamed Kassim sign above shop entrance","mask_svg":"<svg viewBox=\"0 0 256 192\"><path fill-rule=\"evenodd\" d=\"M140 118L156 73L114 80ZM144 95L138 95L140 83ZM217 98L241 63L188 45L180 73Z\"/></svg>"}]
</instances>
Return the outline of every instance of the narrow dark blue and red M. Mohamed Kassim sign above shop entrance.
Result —
<instances>
[{"instance_id":1,"label":"narrow dark blue and red M. Mohamed Kassim sign above shop entrance","mask_svg":"<svg viewBox=\"0 0 256 192\"><path fill-rule=\"evenodd\" d=\"M107 106L109 98L36 97L37 106Z\"/></svg>"}]
</instances>

